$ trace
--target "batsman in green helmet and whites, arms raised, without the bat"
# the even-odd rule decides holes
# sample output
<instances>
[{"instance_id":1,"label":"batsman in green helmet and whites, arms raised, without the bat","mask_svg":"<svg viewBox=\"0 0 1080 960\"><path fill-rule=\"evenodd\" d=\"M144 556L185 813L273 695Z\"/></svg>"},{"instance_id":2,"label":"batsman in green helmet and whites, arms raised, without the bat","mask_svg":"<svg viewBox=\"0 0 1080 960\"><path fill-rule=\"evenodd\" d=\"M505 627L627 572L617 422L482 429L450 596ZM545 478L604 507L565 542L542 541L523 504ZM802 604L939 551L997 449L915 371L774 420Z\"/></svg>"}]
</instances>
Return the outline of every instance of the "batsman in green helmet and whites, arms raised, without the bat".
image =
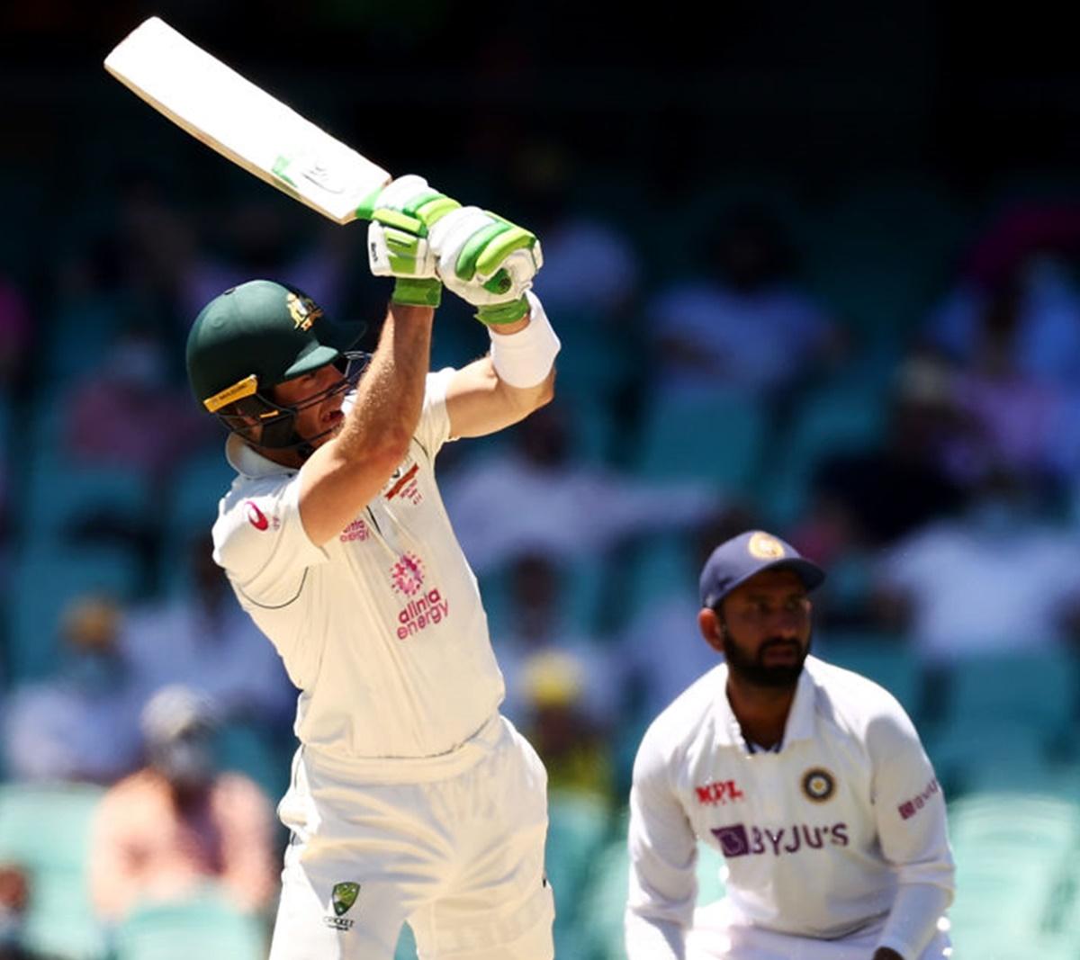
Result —
<instances>
[{"instance_id":1,"label":"batsman in green helmet and whites, arms raised, without the bat","mask_svg":"<svg viewBox=\"0 0 1080 960\"><path fill-rule=\"evenodd\" d=\"M553 394L559 342L528 231L402 177L368 201L372 270L396 278L378 347L342 352L319 307L265 280L199 314L188 373L237 470L215 559L300 689L279 806L272 960L551 960L546 774L499 715L476 580L440 499L448 440ZM442 286L488 355L428 374Z\"/></svg>"}]
</instances>

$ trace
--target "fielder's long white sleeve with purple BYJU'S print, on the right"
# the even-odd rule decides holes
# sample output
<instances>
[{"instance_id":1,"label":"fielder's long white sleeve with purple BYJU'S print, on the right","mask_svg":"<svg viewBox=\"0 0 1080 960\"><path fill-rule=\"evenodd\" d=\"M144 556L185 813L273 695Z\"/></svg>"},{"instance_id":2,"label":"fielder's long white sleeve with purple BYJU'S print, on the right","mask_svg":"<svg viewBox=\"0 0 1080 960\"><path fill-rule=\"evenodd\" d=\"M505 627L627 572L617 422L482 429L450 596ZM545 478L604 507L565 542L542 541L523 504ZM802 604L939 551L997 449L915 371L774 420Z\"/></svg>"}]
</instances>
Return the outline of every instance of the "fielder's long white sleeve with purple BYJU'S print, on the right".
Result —
<instances>
[{"instance_id":1,"label":"fielder's long white sleeve with purple BYJU'S print, on the right","mask_svg":"<svg viewBox=\"0 0 1080 960\"><path fill-rule=\"evenodd\" d=\"M891 698L870 721L866 743L881 852L895 867L901 889L881 945L918 957L956 889L945 798L914 724ZM920 888L931 890L919 893Z\"/></svg>"}]
</instances>

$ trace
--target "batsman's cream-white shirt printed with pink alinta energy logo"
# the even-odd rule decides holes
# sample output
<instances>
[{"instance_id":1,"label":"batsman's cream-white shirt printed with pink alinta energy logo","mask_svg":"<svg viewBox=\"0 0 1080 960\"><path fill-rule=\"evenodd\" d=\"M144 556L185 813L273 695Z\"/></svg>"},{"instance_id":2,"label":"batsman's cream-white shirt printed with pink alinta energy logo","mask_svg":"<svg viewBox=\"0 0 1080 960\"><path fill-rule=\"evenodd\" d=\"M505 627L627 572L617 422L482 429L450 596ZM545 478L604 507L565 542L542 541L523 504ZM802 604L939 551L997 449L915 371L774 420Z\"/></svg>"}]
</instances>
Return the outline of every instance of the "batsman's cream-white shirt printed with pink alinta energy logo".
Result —
<instances>
[{"instance_id":1,"label":"batsman's cream-white shirt printed with pink alinta energy logo","mask_svg":"<svg viewBox=\"0 0 1080 960\"><path fill-rule=\"evenodd\" d=\"M446 754L502 701L476 579L433 472L454 373L428 376L408 456L321 547L300 522L299 472L237 436L227 445L239 475L214 557L300 689L297 738L330 759Z\"/></svg>"}]
</instances>

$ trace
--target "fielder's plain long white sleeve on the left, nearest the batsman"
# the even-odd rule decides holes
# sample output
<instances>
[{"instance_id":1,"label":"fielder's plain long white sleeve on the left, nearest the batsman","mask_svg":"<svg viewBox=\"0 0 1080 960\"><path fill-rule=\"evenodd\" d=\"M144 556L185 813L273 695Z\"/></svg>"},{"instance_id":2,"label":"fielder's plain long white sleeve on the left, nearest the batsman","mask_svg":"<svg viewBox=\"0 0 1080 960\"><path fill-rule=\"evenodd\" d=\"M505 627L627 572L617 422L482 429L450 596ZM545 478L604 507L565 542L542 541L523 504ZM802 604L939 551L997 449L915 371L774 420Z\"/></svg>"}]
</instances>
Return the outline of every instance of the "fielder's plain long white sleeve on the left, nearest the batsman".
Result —
<instances>
[{"instance_id":1,"label":"fielder's plain long white sleeve on the left, nearest the batsman","mask_svg":"<svg viewBox=\"0 0 1080 960\"><path fill-rule=\"evenodd\" d=\"M646 734L630 793L629 960L684 960L698 898L697 838L657 746Z\"/></svg>"}]
</instances>

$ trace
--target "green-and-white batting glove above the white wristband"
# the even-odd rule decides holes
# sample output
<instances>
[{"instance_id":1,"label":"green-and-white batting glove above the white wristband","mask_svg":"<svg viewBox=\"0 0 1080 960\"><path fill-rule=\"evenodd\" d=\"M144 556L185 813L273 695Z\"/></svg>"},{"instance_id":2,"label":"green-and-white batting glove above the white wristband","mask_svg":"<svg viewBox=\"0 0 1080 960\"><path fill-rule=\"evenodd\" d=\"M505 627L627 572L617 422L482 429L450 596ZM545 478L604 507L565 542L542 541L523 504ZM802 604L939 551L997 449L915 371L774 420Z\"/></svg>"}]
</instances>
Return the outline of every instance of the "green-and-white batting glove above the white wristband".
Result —
<instances>
[{"instance_id":1,"label":"green-and-white batting glove above the white wristband","mask_svg":"<svg viewBox=\"0 0 1080 960\"><path fill-rule=\"evenodd\" d=\"M480 308L476 319L498 326L529 311L525 292L543 266L535 233L475 206L454 209L429 234L447 289Z\"/></svg>"}]
</instances>

